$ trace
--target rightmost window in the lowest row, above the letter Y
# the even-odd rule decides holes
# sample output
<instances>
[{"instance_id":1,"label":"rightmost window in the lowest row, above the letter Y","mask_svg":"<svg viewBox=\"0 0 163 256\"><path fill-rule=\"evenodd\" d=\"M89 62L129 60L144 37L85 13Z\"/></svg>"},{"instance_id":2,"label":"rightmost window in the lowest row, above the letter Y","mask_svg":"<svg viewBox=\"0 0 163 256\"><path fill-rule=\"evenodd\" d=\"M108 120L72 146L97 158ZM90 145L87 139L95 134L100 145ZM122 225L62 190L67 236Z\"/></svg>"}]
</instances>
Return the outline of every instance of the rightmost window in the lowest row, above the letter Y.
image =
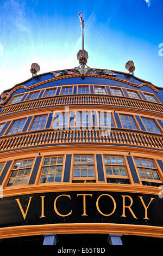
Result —
<instances>
[{"instance_id":1,"label":"rightmost window in the lowest row, above the letter Y","mask_svg":"<svg viewBox=\"0 0 163 256\"><path fill-rule=\"evenodd\" d=\"M153 160L134 158L137 170L139 172L142 184L151 185L148 180L160 181L158 171ZM153 185L153 184L152 184Z\"/></svg>"}]
</instances>

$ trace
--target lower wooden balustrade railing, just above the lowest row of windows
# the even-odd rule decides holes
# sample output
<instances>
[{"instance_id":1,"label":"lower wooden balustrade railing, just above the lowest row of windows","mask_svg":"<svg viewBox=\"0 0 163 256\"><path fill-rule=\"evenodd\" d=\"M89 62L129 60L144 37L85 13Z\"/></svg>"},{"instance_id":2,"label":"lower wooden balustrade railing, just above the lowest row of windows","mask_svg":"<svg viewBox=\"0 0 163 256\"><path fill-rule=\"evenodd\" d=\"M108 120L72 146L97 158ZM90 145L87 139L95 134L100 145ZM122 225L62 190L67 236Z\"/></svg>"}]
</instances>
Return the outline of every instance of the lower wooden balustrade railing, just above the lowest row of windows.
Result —
<instances>
[{"instance_id":1,"label":"lower wooden balustrade railing, just above the lowest row of windows","mask_svg":"<svg viewBox=\"0 0 163 256\"><path fill-rule=\"evenodd\" d=\"M115 144L148 148L163 148L163 136L121 130L49 130L0 139L0 150L58 144Z\"/></svg>"}]
</instances>

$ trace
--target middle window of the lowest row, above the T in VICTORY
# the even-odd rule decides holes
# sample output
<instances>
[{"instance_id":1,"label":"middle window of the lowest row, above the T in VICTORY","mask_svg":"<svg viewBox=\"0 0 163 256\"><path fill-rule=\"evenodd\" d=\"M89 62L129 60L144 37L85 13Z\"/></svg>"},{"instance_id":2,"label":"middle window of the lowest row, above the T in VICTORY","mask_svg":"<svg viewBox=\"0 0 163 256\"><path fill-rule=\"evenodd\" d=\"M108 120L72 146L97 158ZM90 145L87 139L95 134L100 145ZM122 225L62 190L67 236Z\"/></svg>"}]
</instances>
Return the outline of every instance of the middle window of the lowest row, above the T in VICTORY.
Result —
<instances>
[{"instance_id":1,"label":"middle window of the lowest row, above the T in VICTORY","mask_svg":"<svg viewBox=\"0 0 163 256\"><path fill-rule=\"evenodd\" d=\"M74 156L73 181L95 182L95 165L93 156Z\"/></svg>"}]
</instances>

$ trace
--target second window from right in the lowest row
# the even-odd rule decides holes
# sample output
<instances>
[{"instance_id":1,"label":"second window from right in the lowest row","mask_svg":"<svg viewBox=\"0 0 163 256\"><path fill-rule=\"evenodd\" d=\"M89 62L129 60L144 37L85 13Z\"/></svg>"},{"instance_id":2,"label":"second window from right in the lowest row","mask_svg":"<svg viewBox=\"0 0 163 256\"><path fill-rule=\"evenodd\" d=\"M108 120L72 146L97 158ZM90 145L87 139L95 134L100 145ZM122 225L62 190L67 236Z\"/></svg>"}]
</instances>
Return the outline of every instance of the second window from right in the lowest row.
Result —
<instances>
[{"instance_id":1,"label":"second window from right in the lowest row","mask_svg":"<svg viewBox=\"0 0 163 256\"><path fill-rule=\"evenodd\" d=\"M123 157L104 156L104 163L108 183L129 184Z\"/></svg>"}]
</instances>

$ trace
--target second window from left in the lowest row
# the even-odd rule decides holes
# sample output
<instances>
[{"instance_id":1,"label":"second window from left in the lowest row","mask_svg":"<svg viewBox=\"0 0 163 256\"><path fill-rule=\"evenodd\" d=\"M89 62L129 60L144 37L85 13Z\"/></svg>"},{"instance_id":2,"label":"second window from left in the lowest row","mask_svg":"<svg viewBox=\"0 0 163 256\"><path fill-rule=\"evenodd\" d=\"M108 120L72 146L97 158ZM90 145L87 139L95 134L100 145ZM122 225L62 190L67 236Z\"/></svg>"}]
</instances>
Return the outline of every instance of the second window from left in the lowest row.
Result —
<instances>
[{"instance_id":1,"label":"second window from left in the lowest row","mask_svg":"<svg viewBox=\"0 0 163 256\"><path fill-rule=\"evenodd\" d=\"M63 157L46 157L42 166L40 183L61 182Z\"/></svg>"}]
</instances>

